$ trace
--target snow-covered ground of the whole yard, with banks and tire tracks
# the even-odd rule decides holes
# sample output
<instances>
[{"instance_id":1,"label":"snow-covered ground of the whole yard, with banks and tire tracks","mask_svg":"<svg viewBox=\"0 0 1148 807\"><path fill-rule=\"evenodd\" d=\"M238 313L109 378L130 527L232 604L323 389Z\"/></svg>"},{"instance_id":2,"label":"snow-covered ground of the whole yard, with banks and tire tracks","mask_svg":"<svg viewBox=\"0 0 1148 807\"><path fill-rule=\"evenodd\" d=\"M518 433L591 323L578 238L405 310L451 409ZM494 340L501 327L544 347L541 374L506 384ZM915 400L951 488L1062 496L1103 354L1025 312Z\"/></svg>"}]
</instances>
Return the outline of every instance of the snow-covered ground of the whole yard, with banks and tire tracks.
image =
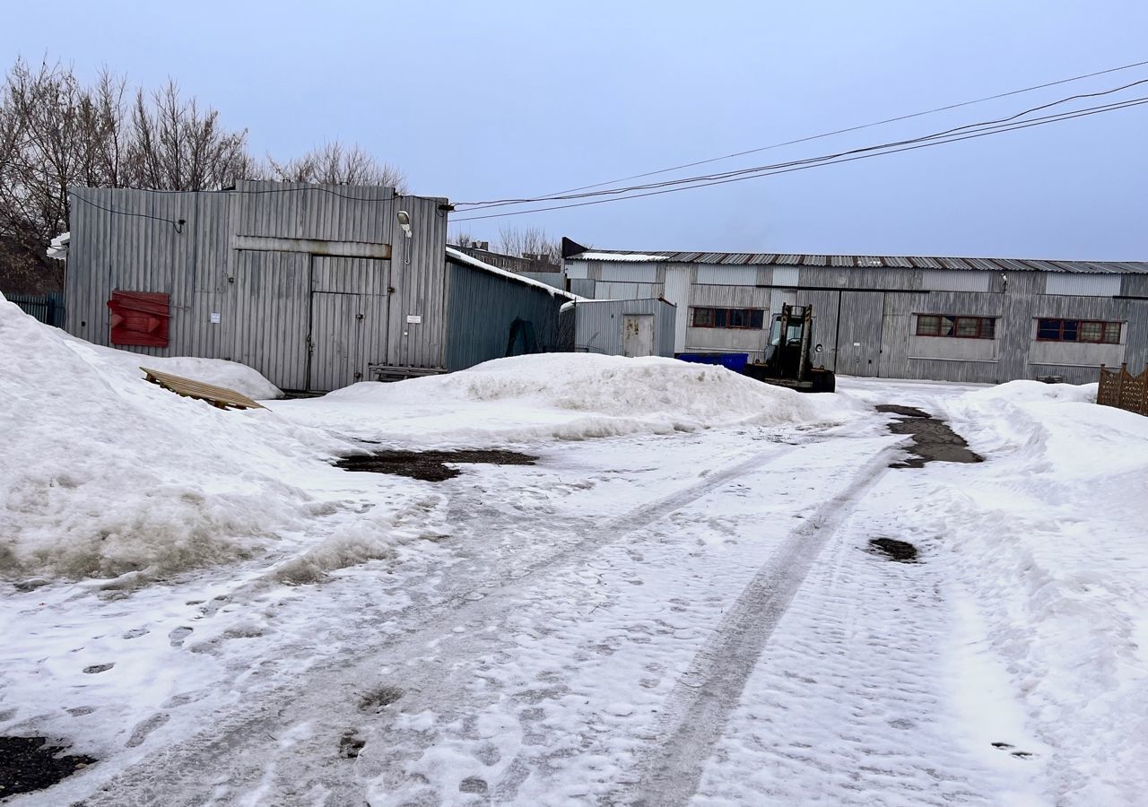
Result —
<instances>
[{"instance_id":1,"label":"snow-covered ground of the whole yard, with banks and tire tracks","mask_svg":"<svg viewBox=\"0 0 1148 807\"><path fill-rule=\"evenodd\" d=\"M1148 419L1094 389L537 356L219 412L11 308L0 735L99 760L11 804L1142 804ZM985 461L890 468L881 403ZM447 447L538 460L329 464Z\"/></svg>"}]
</instances>

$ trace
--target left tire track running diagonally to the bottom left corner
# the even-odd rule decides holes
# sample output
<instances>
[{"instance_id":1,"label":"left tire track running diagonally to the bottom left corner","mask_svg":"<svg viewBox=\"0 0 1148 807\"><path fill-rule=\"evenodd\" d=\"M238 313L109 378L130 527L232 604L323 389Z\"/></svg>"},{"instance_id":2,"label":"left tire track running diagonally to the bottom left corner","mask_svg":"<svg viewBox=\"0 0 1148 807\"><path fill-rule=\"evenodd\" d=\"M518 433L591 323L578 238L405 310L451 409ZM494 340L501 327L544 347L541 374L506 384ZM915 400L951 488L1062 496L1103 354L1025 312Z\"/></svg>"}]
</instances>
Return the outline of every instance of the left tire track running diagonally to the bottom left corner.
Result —
<instances>
[{"instance_id":1,"label":"left tire track running diagonally to the bottom left corner","mask_svg":"<svg viewBox=\"0 0 1148 807\"><path fill-rule=\"evenodd\" d=\"M84 804L87 807L235 804L234 799L242 801L240 793L220 796L217 792L220 777L234 783L251 783L267 775L273 779L266 783L267 786L288 801L300 798L308 785L326 791L328 799L333 799L327 804L362 799L363 784L340 766L336 728L360 720L357 699L364 689L378 681L381 667L425 652L429 642L443 647L457 645L463 657L482 652L487 649L484 645L480 643L475 647L474 637L457 634L455 628L473 622L505 622L510 615L505 602L534 584L534 579L574 566L594 551L625 540L728 482L776 463L807 443L820 442L817 436L808 437L799 443L767 443L770 448L778 447L777 450L743 458L673 494L614 517L589 534L575 534L564 549L526 565L513 576L488 579L445 602L413 605L389 615L388 619L416 627L402 635L379 637L377 643L364 646L355 659L341 657L325 661L309 670L302 681L261 693L254 703L241 703L230 714L212 715L210 729L99 782L100 790L86 797ZM481 598L468 598L475 595ZM444 674L445 670L426 670L421 683L425 686ZM305 722L318 724L310 737L293 739L289 744L279 739L285 727ZM269 745L266 739L277 742L280 753L289 754L290 765L282 765L280 760L269 770L270 750L257 747ZM328 746L329 751L325 752ZM270 751L270 755L277 754ZM279 778L277 770L284 770L290 778ZM304 770L308 773L302 773ZM205 776L204 771L214 771L214 776Z\"/></svg>"}]
</instances>

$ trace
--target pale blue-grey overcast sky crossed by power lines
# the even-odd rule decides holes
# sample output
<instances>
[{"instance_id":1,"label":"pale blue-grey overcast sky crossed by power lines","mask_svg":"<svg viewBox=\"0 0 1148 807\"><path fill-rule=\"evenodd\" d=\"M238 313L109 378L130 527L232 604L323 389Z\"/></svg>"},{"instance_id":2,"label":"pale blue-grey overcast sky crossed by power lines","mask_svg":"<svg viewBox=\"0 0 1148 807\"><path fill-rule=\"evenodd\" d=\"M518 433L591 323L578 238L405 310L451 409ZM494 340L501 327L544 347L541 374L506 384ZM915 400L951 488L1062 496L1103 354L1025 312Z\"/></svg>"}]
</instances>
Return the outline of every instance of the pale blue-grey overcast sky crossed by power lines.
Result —
<instances>
[{"instance_id":1,"label":"pale blue-grey overcast sky crossed by power lines","mask_svg":"<svg viewBox=\"0 0 1148 807\"><path fill-rule=\"evenodd\" d=\"M1148 60L1143 0L7 3L0 53L170 76L256 154L357 142L451 201L535 195ZM774 149L901 140L1148 67ZM1148 85L1107 100L1148 95ZM1103 102L1094 101L1093 103ZM1148 106L652 199L476 220L613 249L1148 259ZM667 174L680 176L680 174ZM664 177L658 177L664 178ZM460 218L459 214L455 218Z\"/></svg>"}]
</instances>

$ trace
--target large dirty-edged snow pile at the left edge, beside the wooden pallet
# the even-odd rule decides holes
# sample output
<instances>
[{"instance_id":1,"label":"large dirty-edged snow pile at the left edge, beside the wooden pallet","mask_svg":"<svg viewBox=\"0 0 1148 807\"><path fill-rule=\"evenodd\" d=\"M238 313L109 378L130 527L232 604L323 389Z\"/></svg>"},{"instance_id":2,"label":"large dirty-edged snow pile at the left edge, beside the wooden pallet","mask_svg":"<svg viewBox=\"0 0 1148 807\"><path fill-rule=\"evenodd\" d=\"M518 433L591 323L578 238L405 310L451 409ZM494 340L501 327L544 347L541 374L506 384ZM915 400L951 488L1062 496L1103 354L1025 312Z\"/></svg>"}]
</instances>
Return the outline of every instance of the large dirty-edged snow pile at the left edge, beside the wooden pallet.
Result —
<instances>
[{"instance_id":1,"label":"large dirty-edged snow pile at the left edge, beside the wooden pallet","mask_svg":"<svg viewBox=\"0 0 1148 807\"><path fill-rule=\"evenodd\" d=\"M168 574L247 557L307 515L340 441L137 378L0 298L0 574Z\"/></svg>"}]
</instances>

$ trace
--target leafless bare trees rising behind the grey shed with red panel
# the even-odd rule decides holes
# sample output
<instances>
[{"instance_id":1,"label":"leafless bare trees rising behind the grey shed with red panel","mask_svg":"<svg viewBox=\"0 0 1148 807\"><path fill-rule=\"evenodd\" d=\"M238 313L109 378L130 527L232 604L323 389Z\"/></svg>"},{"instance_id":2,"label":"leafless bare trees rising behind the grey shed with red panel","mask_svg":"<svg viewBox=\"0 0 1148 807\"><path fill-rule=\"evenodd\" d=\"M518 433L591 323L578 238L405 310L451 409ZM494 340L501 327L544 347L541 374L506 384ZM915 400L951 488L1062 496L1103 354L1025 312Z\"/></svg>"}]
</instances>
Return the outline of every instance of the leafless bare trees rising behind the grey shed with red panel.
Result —
<instances>
[{"instance_id":1,"label":"leafless bare trees rising behind the grey shed with red panel","mask_svg":"<svg viewBox=\"0 0 1148 807\"><path fill-rule=\"evenodd\" d=\"M226 129L172 80L129 93L107 70L84 86L70 67L17 59L0 85L0 284L55 269L44 249L68 228L70 186L204 191L270 176L408 191L402 171L338 141L269 163L251 158L246 129Z\"/></svg>"}]
</instances>

